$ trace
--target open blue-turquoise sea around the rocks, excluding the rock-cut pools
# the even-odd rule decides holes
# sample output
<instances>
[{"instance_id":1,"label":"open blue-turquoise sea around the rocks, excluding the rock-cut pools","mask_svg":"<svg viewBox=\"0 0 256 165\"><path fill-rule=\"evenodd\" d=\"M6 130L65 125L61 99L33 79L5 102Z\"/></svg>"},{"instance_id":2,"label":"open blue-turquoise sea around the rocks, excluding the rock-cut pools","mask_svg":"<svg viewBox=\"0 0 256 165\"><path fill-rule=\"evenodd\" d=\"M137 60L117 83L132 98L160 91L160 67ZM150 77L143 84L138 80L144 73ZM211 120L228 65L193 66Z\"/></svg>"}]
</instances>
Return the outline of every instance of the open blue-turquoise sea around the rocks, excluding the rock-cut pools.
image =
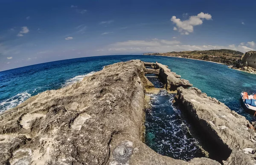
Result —
<instances>
[{"instance_id":1,"label":"open blue-turquoise sea around the rocks, excluding the rock-cut pools","mask_svg":"<svg viewBox=\"0 0 256 165\"><path fill-rule=\"evenodd\" d=\"M140 59L159 62L187 79L195 87L224 102L231 110L251 121L241 106L240 92L256 92L256 75L227 68L226 65L205 61L143 55L84 57L26 66L0 72L0 111L13 108L27 98L46 90L62 88L82 80L86 74L99 71L105 65Z\"/></svg>"}]
</instances>

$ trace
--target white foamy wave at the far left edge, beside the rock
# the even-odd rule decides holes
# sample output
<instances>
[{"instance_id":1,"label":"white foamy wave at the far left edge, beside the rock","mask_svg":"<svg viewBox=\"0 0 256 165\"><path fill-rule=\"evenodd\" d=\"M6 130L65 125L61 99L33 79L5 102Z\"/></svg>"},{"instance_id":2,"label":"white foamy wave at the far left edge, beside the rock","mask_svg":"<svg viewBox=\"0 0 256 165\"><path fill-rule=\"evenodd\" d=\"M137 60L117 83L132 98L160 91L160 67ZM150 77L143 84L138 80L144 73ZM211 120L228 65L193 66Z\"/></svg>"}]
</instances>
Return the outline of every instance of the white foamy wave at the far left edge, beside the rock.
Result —
<instances>
[{"instance_id":1,"label":"white foamy wave at the far left edge, beside the rock","mask_svg":"<svg viewBox=\"0 0 256 165\"><path fill-rule=\"evenodd\" d=\"M29 94L28 92L23 92L3 102L0 102L0 112L16 107L20 103L27 100L29 97L31 97L31 94Z\"/></svg>"}]
</instances>

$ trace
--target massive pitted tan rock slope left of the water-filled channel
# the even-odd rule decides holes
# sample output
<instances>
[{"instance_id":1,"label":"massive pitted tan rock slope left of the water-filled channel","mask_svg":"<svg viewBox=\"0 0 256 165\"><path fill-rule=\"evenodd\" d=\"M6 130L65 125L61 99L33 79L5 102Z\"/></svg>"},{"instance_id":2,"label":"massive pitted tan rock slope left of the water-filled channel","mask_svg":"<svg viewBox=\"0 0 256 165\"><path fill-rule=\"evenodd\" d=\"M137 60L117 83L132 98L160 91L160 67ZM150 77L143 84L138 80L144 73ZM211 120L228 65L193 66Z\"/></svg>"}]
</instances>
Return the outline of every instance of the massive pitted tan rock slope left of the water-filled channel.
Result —
<instances>
[{"instance_id":1,"label":"massive pitted tan rock slope left of the water-filled channel","mask_svg":"<svg viewBox=\"0 0 256 165\"><path fill-rule=\"evenodd\" d=\"M140 60L108 65L80 83L5 111L0 164L219 165L207 158L185 162L161 156L141 141L144 69Z\"/></svg>"}]
</instances>

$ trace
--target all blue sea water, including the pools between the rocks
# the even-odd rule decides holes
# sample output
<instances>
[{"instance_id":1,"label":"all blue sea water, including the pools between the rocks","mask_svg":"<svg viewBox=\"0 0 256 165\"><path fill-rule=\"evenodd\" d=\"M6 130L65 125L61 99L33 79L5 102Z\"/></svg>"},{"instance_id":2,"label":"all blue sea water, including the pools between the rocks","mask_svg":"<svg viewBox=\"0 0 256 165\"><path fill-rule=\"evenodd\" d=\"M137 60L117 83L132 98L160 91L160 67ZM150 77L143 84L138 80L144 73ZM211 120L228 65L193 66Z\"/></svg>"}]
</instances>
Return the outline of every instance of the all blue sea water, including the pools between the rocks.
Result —
<instances>
[{"instance_id":1,"label":"all blue sea water, including the pools between the rocks","mask_svg":"<svg viewBox=\"0 0 256 165\"><path fill-rule=\"evenodd\" d=\"M249 121L256 121L253 115L244 110L240 97L241 91L256 93L256 75L218 63L148 55L83 57L1 71L0 113L41 92L77 83L106 65L135 59L168 65L171 71L189 80L208 96L215 97ZM163 86L158 80L153 80L154 76L147 77L157 87ZM180 116L180 111L172 105L174 95L161 91L150 97L152 109L146 112L145 143L159 154L175 159L201 157L198 142L189 133L189 125Z\"/></svg>"}]
</instances>

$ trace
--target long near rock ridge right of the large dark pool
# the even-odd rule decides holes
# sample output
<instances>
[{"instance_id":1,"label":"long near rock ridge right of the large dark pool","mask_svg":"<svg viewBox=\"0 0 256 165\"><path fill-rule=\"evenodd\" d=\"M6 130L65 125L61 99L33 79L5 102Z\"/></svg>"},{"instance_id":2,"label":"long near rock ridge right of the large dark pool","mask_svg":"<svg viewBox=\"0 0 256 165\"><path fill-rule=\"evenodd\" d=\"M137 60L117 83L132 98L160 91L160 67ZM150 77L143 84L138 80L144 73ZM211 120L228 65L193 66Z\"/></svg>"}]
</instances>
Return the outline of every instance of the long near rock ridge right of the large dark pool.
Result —
<instances>
[{"instance_id":1,"label":"long near rock ridge right of the large dark pool","mask_svg":"<svg viewBox=\"0 0 256 165\"><path fill-rule=\"evenodd\" d=\"M245 117L197 88L178 88L175 100L195 121L207 142L218 148L224 165L256 163L255 131Z\"/></svg>"}]
</instances>

